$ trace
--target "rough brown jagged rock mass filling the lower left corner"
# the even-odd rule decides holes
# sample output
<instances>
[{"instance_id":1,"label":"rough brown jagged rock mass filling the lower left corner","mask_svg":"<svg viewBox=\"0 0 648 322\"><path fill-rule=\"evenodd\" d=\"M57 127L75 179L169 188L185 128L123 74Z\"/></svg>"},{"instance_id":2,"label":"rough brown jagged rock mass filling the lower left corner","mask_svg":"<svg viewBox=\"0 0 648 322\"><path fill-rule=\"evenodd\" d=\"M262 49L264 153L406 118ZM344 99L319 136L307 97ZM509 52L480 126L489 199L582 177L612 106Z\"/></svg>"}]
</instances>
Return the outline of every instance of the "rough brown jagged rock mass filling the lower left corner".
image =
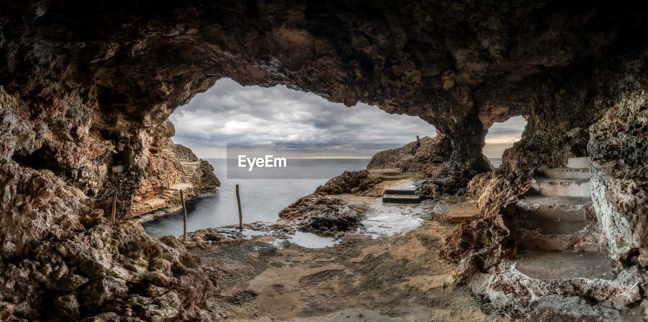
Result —
<instances>
[{"instance_id":1,"label":"rough brown jagged rock mass filling the lower left corner","mask_svg":"<svg viewBox=\"0 0 648 322\"><path fill-rule=\"evenodd\" d=\"M47 169L0 160L0 182L3 321L213 318L217 274L176 239L111 225Z\"/></svg>"}]
</instances>

